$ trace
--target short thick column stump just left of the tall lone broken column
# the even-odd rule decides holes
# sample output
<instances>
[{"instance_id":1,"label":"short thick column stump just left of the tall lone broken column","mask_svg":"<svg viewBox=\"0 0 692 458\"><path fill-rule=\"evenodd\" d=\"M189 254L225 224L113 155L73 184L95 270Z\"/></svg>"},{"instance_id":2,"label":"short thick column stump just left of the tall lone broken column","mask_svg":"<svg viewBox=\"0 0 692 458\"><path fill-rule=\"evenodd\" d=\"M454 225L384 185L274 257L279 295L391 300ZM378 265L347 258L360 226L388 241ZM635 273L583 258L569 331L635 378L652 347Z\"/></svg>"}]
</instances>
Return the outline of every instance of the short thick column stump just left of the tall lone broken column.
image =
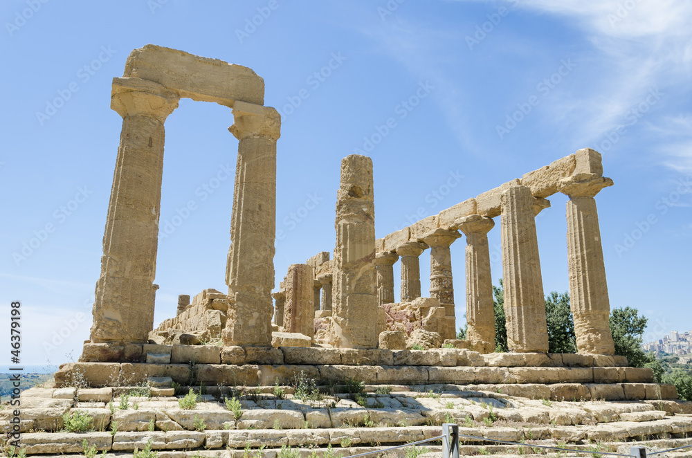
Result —
<instances>
[{"instance_id":1,"label":"short thick column stump just left of the tall lone broken column","mask_svg":"<svg viewBox=\"0 0 692 458\"><path fill-rule=\"evenodd\" d=\"M312 337L315 333L313 270L307 264L291 264L286 275L284 331Z\"/></svg>"}]
</instances>

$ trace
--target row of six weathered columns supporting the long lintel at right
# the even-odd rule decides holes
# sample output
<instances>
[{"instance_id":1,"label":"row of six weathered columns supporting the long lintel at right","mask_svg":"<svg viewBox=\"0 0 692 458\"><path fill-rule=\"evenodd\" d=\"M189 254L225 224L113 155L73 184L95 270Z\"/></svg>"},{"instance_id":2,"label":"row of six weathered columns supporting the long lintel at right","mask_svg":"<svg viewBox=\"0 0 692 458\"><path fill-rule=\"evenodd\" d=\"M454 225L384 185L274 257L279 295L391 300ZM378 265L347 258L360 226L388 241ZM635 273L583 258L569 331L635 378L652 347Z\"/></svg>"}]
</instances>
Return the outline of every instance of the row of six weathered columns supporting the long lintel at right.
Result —
<instances>
[{"instance_id":1,"label":"row of six weathered columns supporting the long lintel at right","mask_svg":"<svg viewBox=\"0 0 692 458\"><path fill-rule=\"evenodd\" d=\"M614 354L608 316L608 286L594 196L610 178L576 174L558 185L567 201L567 252L570 298L577 348L583 354ZM540 274L536 215L549 206L531 195L527 186L512 186L501 199L502 277L507 340L511 351L548 351L545 299ZM493 219L473 214L455 221L466 235L466 322L468 340L495 345L495 315L488 232ZM456 230L438 229L422 241L407 241L375 258L379 304L394 302L393 265L401 257L401 302L421 295L419 256L430 247L430 295L440 301L450 319L446 330L454 338L454 296L450 245Z\"/></svg>"}]
</instances>

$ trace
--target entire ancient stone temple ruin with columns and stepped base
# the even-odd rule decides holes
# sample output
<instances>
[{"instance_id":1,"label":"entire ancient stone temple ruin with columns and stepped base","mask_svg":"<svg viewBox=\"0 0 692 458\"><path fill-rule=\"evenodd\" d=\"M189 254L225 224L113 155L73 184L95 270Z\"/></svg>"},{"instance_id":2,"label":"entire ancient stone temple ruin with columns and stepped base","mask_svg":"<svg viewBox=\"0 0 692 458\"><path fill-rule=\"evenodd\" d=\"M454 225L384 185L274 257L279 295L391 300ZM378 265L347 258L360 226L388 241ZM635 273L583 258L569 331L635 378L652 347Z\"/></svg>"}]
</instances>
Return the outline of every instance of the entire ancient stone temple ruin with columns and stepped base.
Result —
<instances>
[{"instance_id":1,"label":"entire ancient stone temple ruin with columns and stepped base","mask_svg":"<svg viewBox=\"0 0 692 458\"><path fill-rule=\"evenodd\" d=\"M192 300L181 291L176 316L154 329L164 122L185 97L233 111L229 130L239 146L228 291L210 288ZM692 421L680 416L692 413L692 403L678 401L673 385L654 383L650 369L628 367L614 354L594 199L613 183L593 149L379 238L376 205L388 196L376 199L372 160L343 158L334 247L291 264L275 285L280 116L264 107L264 80L246 67L147 45L113 79L111 108L122 116L122 134L91 337L79 362L56 372L53 387L30 390L33 401L17 426L28 453L84 452L83 434L57 433L75 412L91 416L98 431L88 437L96 450L205 448L218 452L204 456L223 450L238 458L249 456L244 448L273 458L282 446L322 457L334 445L353 455L438 437L441 423L464 423L477 436L464 446L468 453L490 446L518 452L484 437L578 447L644 436L683 441L692 432ZM570 198L577 354L548 353L535 217L558 192ZM493 229L502 240L510 353L493 352ZM453 279L455 242L465 244L464 282ZM430 297L424 297L420 257L428 249ZM401 293L394 302L399 259ZM467 340L456 338L460 297ZM12 428L3 412L0 421ZM498 419L509 426L491 427ZM482 430L484 424L491 429Z\"/></svg>"}]
</instances>

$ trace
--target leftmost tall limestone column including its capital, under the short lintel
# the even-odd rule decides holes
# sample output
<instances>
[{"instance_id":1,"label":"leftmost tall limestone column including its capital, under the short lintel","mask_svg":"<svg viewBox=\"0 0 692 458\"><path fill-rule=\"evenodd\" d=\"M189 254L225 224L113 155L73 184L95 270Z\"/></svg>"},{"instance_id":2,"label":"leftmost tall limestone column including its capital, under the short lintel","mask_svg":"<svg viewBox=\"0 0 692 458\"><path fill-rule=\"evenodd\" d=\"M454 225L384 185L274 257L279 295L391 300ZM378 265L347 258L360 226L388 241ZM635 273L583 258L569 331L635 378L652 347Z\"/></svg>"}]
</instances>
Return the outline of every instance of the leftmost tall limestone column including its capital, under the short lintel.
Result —
<instances>
[{"instance_id":1,"label":"leftmost tall limestone column including its capital, under the short lintel","mask_svg":"<svg viewBox=\"0 0 692 458\"><path fill-rule=\"evenodd\" d=\"M147 342L154 329L163 123L178 97L154 82L113 80L120 146L96 283L91 342Z\"/></svg>"}]
</instances>

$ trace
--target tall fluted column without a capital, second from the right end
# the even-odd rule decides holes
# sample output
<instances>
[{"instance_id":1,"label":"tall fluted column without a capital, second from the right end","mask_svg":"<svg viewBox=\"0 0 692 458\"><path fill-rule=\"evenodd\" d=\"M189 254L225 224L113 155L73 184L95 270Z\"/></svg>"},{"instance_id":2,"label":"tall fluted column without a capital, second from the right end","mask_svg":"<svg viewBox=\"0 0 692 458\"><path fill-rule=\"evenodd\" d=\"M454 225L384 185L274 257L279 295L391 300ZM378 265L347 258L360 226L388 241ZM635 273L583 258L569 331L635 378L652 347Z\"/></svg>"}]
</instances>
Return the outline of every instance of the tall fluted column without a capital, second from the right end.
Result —
<instances>
[{"instance_id":1,"label":"tall fluted column without a capital, second from the right end","mask_svg":"<svg viewBox=\"0 0 692 458\"><path fill-rule=\"evenodd\" d=\"M548 351L534 197L527 186L502 192L502 278L511 351Z\"/></svg>"}]
</instances>

